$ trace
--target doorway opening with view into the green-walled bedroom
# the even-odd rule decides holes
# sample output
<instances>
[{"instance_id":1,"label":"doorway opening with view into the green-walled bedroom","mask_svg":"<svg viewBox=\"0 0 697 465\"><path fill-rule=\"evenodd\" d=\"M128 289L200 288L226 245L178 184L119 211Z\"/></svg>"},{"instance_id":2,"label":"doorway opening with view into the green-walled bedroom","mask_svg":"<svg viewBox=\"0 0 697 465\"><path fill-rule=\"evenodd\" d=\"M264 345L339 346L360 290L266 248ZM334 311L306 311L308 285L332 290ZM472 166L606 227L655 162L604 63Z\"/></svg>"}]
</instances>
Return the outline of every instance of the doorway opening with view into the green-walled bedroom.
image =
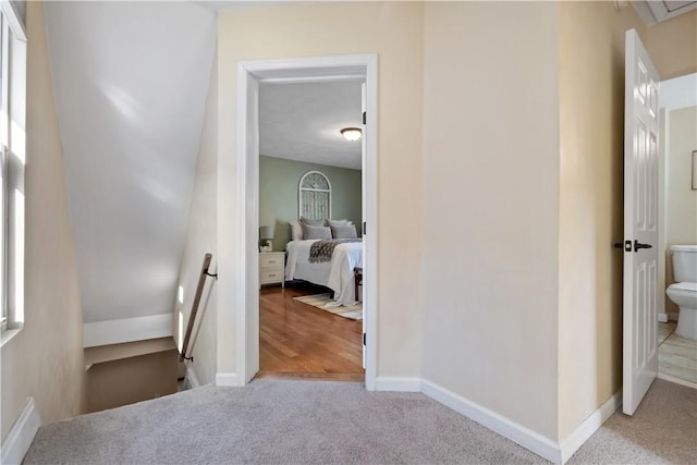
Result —
<instances>
[{"instance_id":1,"label":"doorway opening with view into the green-walled bedroom","mask_svg":"<svg viewBox=\"0 0 697 465\"><path fill-rule=\"evenodd\" d=\"M259 85L256 377L364 380L362 143L342 134L360 135L364 84Z\"/></svg>"}]
</instances>

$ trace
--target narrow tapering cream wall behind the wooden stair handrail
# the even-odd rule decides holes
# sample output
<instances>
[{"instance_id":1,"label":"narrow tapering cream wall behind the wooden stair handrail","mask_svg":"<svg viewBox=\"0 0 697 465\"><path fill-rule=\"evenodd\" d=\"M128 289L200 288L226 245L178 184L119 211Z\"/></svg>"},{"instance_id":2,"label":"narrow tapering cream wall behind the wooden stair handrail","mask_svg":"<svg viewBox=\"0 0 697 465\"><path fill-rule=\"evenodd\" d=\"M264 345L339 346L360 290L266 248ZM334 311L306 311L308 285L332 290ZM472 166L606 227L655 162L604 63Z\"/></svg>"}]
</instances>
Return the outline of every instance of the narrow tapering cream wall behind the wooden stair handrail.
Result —
<instances>
[{"instance_id":1,"label":"narrow tapering cream wall behind the wooden stair handrail","mask_svg":"<svg viewBox=\"0 0 697 465\"><path fill-rule=\"evenodd\" d=\"M196 178L188 213L188 229L186 245L179 273L179 285L184 289L184 302L175 301L174 339L181 350L188 316L198 284L201 261L206 253L212 254L210 269L216 270L218 262L218 54L213 57L208 97L206 99L206 115L198 148L196 162ZM196 317L197 326L192 338L194 350L191 355L194 362L186 362L189 369L196 374L201 384L216 381L217 366L217 311L218 283L207 278L203 298ZM180 319L180 314L182 318ZM180 327L180 321L182 327Z\"/></svg>"}]
</instances>

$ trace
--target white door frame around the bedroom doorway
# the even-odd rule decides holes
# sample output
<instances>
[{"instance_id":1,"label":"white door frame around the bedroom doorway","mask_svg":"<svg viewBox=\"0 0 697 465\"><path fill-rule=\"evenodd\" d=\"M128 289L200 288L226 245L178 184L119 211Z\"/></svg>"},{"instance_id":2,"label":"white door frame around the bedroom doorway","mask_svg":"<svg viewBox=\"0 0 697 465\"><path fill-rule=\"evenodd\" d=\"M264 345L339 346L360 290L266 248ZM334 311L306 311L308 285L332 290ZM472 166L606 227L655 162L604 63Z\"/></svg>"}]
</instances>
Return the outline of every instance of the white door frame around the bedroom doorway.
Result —
<instances>
[{"instance_id":1,"label":"white door frame around the bedroom doorway","mask_svg":"<svg viewBox=\"0 0 697 465\"><path fill-rule=\"evenodd\" d=\"M378 56L377 53L328 56L279 60L254 60L237 63L237 143L235 189L240 208L235 208L235 240L232 241L235 267L241 267L233 282L235 303L235 365L239 384L246 384L259 370L259 260L257 227L259 222L259 83L320 82L364 77L366 79L366 151L363 155L366 208L363 220L369 234L364 235L364 301L366 315L365 387L375 390L378 342Z\"/></svg>"}]
</instances>

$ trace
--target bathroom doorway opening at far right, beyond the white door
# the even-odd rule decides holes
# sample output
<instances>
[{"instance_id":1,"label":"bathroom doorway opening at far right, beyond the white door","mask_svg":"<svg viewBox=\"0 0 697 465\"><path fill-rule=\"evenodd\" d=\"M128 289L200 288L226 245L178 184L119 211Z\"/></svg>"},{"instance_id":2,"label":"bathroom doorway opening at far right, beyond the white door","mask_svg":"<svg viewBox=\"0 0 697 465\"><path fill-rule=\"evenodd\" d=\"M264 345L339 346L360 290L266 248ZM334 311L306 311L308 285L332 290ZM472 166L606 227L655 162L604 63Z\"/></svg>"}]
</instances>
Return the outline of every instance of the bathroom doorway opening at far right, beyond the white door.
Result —
<instances>
[{"instance_id":1,"label":"bathroom doorway opening at far right, beyond the white door","mask_svg":"<svg viewBox=\"0 0 697 465\"><path fill-rule=\"evenodd\" d=\"M697 341L675 331L680 307L668 290L682 289L674 276L676 255L697 244L697 73L661 81L659 99L658 375L697 388ZM694 156L697 159L697 155ZM693 174L695 171L696 174ZM694 183L694 184L693 184ZM687 247L685 247L687 246ZM680 259L680 258L678 258ZM683 277L684 279L684 277Z\"/></svg>"}]
</instances>

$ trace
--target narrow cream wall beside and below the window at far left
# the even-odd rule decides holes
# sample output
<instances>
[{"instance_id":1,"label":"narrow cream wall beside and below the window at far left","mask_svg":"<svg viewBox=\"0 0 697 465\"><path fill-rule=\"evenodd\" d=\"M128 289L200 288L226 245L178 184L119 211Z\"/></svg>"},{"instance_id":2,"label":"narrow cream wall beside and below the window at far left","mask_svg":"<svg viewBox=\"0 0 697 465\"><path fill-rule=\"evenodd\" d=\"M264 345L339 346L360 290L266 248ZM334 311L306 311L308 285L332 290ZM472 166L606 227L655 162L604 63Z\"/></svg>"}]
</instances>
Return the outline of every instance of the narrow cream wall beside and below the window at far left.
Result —
<instances>
[{"instance_id":1,"label":"narrow cream wall beside and below the window at far left","mask_svg":"<svg viewBox=\"0 0 697 465\"><path fill-rule=\"evenodd\" d=\"M25 325L2 346L2 441L27 397L45 423L83 405L83 327L44 7L27 2Z\"/></svg>"}]
</instances>

